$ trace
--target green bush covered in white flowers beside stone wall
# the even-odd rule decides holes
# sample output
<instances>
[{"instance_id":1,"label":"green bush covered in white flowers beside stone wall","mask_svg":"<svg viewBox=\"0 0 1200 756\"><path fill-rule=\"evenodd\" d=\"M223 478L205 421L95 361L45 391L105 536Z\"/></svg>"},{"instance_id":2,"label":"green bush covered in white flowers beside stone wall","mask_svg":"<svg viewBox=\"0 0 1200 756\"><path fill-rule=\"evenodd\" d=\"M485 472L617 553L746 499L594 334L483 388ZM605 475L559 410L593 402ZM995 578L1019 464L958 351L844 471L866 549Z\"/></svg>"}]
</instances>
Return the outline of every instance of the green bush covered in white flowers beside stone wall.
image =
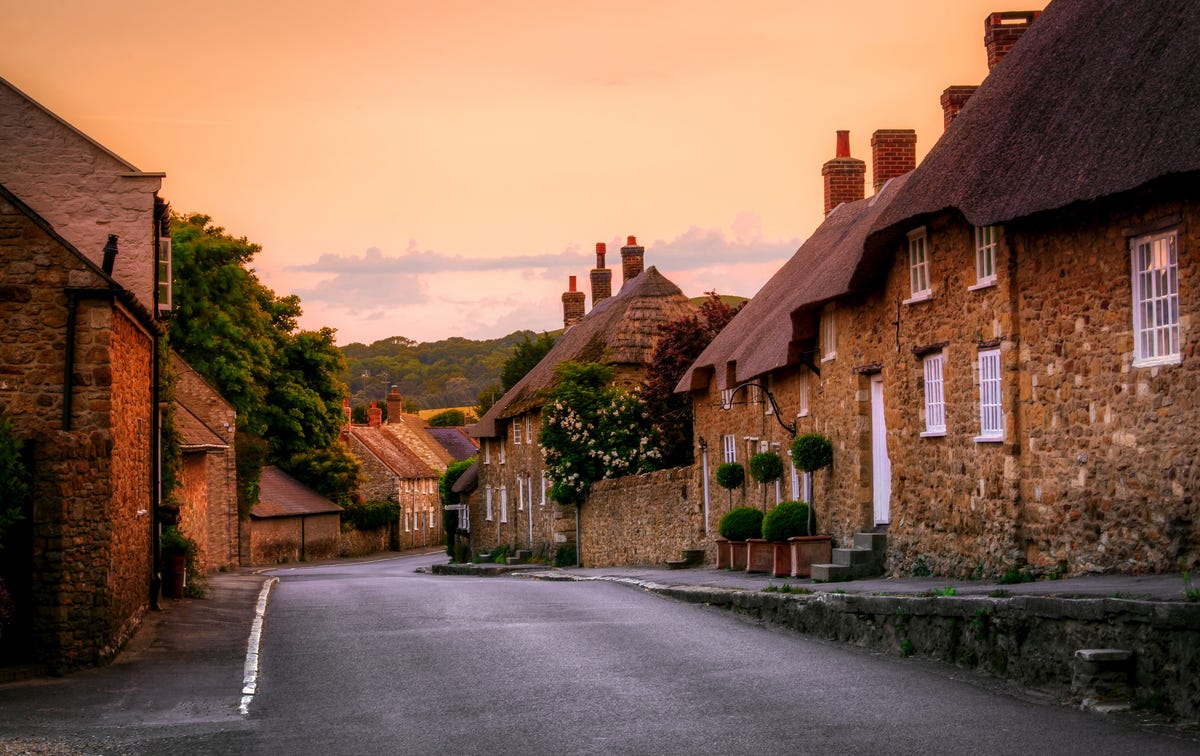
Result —
<instances>
[{"instance_id":1,"label":"green bush covered in white flowers beside stone wall","mask_svg":"<svg viewBox=\"0 0 1200 756\"><path fill-rule=\"evenodd\" d=\"M637 397L611 385L613 368L563 362L541 413L551 497L581 504L592 484L658 469L659 434Z\"/></svg>"}]
</instances>

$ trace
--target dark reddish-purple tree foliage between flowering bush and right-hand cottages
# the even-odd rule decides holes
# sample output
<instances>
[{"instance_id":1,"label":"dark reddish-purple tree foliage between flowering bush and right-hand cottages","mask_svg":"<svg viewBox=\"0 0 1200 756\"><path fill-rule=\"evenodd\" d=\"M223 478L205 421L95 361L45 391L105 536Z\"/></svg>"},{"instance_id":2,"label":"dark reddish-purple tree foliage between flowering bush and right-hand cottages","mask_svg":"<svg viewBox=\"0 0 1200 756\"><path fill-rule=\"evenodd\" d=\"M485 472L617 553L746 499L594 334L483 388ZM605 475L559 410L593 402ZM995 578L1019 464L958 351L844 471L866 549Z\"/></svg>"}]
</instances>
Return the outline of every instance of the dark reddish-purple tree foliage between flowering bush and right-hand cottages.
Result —
<instances>
[{"instance_id":1,"label":"dark reddish-purple tree foliage between flowering bush and right-hand cottages","mask_svg":"<svg viewBox=\"0 0 1200 756\"><path fill-rule=\"evenodd\" d=\"M700 353L733 319L731 307L716 292L708 292L700 313L684 316L659 329L659 343L646 367L641 397L662 433L664 464L677 467L692 461L691 397L674 388Z\"/></svg>"}]
</instances>

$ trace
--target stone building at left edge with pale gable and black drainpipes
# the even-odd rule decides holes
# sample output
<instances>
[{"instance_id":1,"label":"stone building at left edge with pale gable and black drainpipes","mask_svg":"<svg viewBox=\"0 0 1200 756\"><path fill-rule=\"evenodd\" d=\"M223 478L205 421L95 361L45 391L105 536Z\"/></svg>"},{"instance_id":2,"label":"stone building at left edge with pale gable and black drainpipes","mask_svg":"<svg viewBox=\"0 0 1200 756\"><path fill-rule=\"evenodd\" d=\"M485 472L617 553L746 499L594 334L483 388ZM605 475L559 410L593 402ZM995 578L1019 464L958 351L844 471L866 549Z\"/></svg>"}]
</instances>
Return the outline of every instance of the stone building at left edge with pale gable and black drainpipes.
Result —
<instances>
[{"instance_id":1,"label":"stone building at left edge with pale gable and black drainpipes","mask_svg":"<svg viewBox=\"0 0 1200 756\"><path fill-rule=\"evenodd\" d=\"M2 637L52 671L112 658L157 600L162 175L0 79L0 413L34 481Z\"/></svg>"}]
</instances>

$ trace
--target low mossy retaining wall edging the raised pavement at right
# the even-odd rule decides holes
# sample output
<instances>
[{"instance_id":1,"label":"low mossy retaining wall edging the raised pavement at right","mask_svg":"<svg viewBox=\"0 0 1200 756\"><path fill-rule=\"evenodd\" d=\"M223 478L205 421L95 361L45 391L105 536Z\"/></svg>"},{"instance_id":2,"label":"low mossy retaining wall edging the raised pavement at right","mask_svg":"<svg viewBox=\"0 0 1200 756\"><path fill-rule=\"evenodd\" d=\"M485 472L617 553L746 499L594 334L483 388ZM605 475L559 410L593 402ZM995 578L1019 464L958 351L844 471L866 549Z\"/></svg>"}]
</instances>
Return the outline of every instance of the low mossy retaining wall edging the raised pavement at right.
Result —
<instances>
[{"instance_id":1,"label":"low mossy retaining wall edging the raised pavement at right","mask_svg":"<svg viewBox=\"0 0 1200 756\"><path fill-rule=\"evenodd\" d=\"M658 588L806 635L947 661L1072 696L1079 649L1133 652L1132 703L1200 716L1200 605L1045 596L878 596ZM1078 697L1078 696L1076 696Z\"/></svg>"}]
</instances>

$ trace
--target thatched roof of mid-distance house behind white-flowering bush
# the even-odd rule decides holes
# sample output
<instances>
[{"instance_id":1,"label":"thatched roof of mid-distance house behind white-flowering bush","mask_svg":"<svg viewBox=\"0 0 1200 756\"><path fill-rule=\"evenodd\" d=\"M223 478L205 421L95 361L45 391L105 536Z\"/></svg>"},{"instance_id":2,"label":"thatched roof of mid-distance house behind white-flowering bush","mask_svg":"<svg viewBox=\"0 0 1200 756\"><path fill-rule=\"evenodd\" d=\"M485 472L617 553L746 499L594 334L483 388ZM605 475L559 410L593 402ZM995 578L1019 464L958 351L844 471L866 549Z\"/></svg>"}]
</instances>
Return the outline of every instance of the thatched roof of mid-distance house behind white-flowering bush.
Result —
<instances>
[{"instance_id":1,"label":"thatched roof of mid-distance house behind white-flowering bush","mask_svg":"<svg viewBox=\"0 0 1200 756\"><path fill-rule=\"evenodd\" d=\"M611 365L641 367L654 354L659 326L695 312L696 305L679 287L655 268L647 268L566 329L546 356L468 432L475 438L491 438L496 436L497 420L541 407L542 392L552 385L554 368L560 362L607 359Z\"/></svg>"}]
</instances>

